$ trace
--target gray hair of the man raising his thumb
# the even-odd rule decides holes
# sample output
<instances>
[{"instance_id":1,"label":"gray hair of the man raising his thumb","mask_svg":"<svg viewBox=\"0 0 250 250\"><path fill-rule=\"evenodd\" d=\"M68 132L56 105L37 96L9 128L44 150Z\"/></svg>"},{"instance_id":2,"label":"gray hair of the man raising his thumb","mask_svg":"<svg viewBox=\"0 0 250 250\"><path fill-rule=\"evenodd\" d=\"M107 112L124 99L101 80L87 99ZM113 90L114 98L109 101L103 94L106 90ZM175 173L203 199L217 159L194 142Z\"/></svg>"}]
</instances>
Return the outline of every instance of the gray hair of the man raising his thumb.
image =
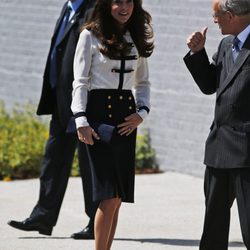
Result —
<instances>
[{"instance_id":1,"label":"gray hair of the man raising his thumb","mask_svg":"<svg viewBox=\"0 0 250 250\"><path fill-rule=\"evenodd\" d=\"M222 11L230 11L236 16L250 14L250 0L221 0L220 7Z\"/></svg>"}]
</instances>

